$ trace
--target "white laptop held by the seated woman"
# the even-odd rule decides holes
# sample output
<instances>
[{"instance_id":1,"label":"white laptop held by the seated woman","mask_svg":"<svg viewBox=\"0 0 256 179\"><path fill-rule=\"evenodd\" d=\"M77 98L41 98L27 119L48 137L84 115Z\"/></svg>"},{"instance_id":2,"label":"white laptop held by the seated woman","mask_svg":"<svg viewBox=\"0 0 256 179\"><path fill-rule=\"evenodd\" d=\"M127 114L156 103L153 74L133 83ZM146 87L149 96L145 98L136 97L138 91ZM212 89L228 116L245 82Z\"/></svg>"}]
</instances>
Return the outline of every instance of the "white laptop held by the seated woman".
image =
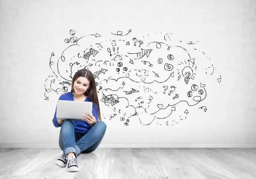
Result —
<instances>
[{"instance_id":1,"label":"white laptop held by the seated woman","mask_svg":"<svg viewBox=\"0 0 256 179\"><path fill-rule=\"evenodd\" d=\"M93 103L89 101L57 101L57 119L81 121L85 113L92 113Z\"/></svg>"}]
</instances>

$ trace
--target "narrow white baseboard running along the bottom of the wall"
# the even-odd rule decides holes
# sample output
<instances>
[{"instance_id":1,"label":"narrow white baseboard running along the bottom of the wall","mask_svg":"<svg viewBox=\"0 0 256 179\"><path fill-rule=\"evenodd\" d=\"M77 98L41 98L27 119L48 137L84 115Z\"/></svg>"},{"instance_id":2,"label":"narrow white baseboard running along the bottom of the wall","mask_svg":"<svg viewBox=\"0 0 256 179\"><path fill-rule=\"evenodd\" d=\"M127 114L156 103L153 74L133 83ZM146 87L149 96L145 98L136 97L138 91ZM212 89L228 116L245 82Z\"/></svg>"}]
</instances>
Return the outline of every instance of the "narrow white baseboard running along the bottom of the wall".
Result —
<instances>
[{"instance_id":1,"label":"narrow white baseboard running along the bottom of the wall","mask_svg":"<svg viewBox=\"0 0 256 179\"><path fill-rule=\"evenodd\" d=\"M0 148L57 148L58 144L0 144ZM99 148L256 148L256 144L100 144Z\"/></svg>"}]
</instances>

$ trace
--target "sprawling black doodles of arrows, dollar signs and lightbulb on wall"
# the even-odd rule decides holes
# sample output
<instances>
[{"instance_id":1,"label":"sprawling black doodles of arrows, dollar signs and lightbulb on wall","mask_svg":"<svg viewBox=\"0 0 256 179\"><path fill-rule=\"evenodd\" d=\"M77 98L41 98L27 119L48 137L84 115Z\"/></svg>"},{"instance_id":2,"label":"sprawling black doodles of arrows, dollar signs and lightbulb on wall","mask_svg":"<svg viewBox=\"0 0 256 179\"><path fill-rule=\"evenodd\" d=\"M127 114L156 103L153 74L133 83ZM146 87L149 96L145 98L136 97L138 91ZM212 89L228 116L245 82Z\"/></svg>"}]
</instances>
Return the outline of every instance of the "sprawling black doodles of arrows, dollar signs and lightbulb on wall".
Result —
<instances>
[{"instance_id":1,"label":"sprawling black doodles of arrows, dollar signs and lightbulb on wall","mask_svg":"<svg viewBox=\"0 0 256 179\"><path fill-rule=\"evenodd\" d=\"M103 120L173 126L186 121L191 110L206 112L207 83L221 83L211 59L198 49L199 41L183 42L171 33L138 37L131 29L108 37L78 38L75 30L69 35L59 57L50 55L44 100L69 92L73 75L90 69Z\"/></svg>"}]
</instances>

